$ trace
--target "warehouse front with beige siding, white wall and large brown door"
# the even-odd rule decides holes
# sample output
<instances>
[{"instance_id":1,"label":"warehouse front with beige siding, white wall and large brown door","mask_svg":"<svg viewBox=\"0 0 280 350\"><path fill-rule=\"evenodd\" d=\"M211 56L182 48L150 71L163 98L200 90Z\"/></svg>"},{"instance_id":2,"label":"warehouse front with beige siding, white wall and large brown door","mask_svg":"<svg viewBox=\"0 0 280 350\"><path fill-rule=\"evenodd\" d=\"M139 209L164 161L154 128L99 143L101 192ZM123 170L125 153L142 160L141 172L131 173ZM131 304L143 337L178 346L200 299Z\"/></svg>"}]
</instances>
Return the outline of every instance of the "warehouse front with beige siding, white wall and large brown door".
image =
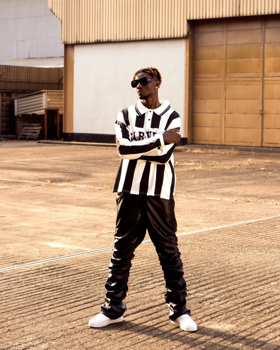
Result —
<instances>
[{"instance_id":1,"label":"warehouse front with beige siding, white wall and large brown door","mask_svg":"<svg viewBox=\"0 0 280 350\"><path fill-rule=\"evenodd\" d=\"M183 143L280 146L280 0L48 0L65 44L65 140L114 141L139 68Z\"/></svg>"}]
</instances>

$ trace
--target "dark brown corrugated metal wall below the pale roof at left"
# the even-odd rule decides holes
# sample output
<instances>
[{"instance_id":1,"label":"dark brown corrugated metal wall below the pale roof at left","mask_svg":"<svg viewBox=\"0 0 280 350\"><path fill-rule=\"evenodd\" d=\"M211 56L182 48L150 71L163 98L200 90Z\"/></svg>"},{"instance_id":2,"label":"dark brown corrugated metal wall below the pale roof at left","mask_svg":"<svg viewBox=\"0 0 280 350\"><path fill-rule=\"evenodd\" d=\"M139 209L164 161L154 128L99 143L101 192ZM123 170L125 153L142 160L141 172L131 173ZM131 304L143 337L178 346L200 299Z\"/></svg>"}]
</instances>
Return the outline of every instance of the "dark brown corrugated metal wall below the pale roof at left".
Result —
<instances>
[{"instance_id":1,"label":"dark brown corrugated metal wall below the pale roof at left","mask_svg":"<svg viewBox=\"0 0 280 350\"><path fill-rule=\"evenodd\" d=\"M0 91L63 90L63 68L0 65Z\"/></svg>"}]
</instances>

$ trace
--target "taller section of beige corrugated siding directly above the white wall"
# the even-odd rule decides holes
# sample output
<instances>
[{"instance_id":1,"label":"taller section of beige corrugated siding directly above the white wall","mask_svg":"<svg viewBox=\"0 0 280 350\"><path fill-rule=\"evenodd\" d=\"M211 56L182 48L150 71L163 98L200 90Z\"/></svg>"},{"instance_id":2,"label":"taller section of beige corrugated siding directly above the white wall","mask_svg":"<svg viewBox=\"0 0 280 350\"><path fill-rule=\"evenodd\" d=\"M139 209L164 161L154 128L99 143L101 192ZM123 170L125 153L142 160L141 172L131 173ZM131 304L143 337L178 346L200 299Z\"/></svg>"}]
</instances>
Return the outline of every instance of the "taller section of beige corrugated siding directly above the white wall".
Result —
<instances>
[{"instance_id":1,"label":"taller section of beige corrugated siding directly above the white wall","mask_svg":"<svg viewBox=\"0 0 280 350\"><path fill-rule=\"evenodd\" d=\"M187 36L186 0L48 0L65 44Z\"/></svg>"}]
</instances>

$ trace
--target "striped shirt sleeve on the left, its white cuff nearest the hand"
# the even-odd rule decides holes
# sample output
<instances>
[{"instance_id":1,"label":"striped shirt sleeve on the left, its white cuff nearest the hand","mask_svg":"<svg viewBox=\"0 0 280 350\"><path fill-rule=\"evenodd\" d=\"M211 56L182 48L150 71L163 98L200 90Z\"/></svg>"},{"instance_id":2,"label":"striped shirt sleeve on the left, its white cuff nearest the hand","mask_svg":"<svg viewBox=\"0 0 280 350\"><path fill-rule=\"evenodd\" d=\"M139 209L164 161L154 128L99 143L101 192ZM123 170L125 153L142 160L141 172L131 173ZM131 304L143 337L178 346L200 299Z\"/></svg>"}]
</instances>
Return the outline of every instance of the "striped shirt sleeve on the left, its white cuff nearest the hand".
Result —
<instances>
[{"instance_id":1,"label":"striped shirt sleeve on the left, its white cuff nearest the hand","mask_svg":"<svg viewBox=\"0 0 280 350\"><path fill-rule=\"evenodd\" d=\"M164 146L163 134L156 134L149 139L130 140L128 120L119 112L115 123L117 151L121 159L138 159L158 147Z\"/></svg>"}]
</instances>

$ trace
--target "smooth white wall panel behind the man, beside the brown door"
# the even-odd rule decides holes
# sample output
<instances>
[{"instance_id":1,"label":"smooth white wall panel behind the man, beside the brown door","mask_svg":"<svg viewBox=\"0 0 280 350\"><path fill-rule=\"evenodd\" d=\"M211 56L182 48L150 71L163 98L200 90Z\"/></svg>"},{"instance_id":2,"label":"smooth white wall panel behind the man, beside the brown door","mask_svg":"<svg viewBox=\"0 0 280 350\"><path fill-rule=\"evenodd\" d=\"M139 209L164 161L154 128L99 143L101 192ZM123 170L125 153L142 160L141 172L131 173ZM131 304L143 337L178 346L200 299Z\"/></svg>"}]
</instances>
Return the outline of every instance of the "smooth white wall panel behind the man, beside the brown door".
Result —
<instances>
[{"instance_id":1,"label":"smooth white wall panel behind the man, beside the brown door","mask_svg":"<svg viewBox=\"0 0 280 350\"><path fill-rule=\"evenodd\" d=\"M138 100L130 82L144 67L160 70L159 98L180 114L183 132L185 49L185 39L75 45L74 133L114 134L117 113Z\"/></svg>"}]
</instances>

